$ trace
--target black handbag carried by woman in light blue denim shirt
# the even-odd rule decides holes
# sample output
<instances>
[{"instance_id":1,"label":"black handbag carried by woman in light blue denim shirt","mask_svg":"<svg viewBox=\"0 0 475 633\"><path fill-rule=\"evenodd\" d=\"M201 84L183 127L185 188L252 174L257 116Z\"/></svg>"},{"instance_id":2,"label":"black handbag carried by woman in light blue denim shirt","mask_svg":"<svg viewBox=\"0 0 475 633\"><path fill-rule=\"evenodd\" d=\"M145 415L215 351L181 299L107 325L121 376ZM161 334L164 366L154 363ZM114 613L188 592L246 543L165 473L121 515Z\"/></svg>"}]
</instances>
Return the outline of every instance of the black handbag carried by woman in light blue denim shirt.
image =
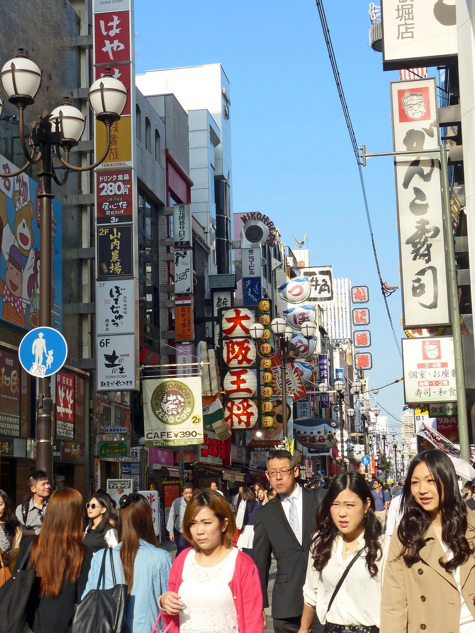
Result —
<instances>
[{"instance_id":1,"label":"black handbag carried by woman in light blue denim shirt","mask_svg":"<svg viewBox=\"0 0 475 633\"><path fill-rule=\"evenodd\" d=\"M111 589L100 589L107 552L110 553L114 586ZM125 629L128 589L125 584L117 584L112 549L106 548L102 557L98 586L91 589L77 605L70 633L122 633Z\"/></svg>"}]
</instances>

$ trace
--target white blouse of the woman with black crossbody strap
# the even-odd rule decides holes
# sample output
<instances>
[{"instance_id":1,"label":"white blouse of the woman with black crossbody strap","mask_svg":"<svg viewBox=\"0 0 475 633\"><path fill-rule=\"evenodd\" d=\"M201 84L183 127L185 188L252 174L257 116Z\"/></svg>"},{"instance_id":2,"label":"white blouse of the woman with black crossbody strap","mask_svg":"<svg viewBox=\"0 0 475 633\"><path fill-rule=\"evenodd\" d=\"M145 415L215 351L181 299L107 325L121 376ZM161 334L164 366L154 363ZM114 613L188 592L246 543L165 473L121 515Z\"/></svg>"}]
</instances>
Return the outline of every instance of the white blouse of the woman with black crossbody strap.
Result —
<instances>
[{"instance_id":1,"label":"white blouse of the woman with black crossbody strap","mask_svg":"<svg viewBox=\"0 0 475 633\"><path fill-rule=\"evenodd\" d=\"M366 568L365 553L362 552L358 560L348 572L343 585L339 588L330 611L327 606L338 584L341 575L352 561L352 556L343 560L343 537L338 534L333 542L329 561L322 572L316 572L312 550L308 555L307 577L303 586L303 601L313 606L322 624L333 622L343 625L363 625L379 628L379 608L381 606L381 584L383 569L388 556L390 538L381 535L379 542L383 548L383 557L376 561L378 572L371 578ZM358 539L359 551L364 547L364 536ZM362 599L364 597L364 599Z\"/></svg>"}]
</instances>

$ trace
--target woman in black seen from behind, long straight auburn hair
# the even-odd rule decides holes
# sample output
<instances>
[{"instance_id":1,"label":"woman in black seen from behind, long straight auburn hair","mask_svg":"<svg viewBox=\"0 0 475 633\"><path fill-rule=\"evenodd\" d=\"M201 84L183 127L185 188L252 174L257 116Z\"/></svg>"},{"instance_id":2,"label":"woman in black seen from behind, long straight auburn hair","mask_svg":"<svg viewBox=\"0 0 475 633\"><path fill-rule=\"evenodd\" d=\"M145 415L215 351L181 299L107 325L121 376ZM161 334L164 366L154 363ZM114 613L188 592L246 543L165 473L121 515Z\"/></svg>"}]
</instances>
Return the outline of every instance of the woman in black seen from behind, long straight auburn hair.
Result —
<instances>
[{"instance_id":1,"label":"woman in black seen from behind, long straight auburn hair","mask_svg":"<svg viewBox=\"0 0 475 633\"><path fill-rule=\"evenodd\" d=\"M39 536L25 536L18 561L28 558L36 579L28 598L23 633L68 633L84 591L92 552L82 540L84 499L77 490L60 488L48 502Z\"/></svg>"}]
</instances>

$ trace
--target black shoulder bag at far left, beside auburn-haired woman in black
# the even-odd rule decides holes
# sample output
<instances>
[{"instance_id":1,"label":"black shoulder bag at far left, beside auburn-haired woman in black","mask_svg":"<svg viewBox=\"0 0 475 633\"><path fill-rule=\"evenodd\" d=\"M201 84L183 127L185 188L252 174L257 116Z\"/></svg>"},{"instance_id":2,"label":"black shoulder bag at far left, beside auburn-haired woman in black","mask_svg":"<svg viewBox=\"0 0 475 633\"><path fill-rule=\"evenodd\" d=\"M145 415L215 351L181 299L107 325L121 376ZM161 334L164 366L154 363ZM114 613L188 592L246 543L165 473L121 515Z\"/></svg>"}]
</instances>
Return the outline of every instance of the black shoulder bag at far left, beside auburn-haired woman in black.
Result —
<instances>
[{"instance_id":1,"label":"black shoulder bag at far left, beside auburn-haired woman in black","mask_svg":"<svg viewBox=\"0 0 475 633\"><path fill-rule=\"evenodd\" d=\"M34 569L23 569L30 556L33 539L20 560L16 559L13 576L0 587L0 633L22 633L27 621L27 606L36 578Z\"/></svg>"}]
</instances>

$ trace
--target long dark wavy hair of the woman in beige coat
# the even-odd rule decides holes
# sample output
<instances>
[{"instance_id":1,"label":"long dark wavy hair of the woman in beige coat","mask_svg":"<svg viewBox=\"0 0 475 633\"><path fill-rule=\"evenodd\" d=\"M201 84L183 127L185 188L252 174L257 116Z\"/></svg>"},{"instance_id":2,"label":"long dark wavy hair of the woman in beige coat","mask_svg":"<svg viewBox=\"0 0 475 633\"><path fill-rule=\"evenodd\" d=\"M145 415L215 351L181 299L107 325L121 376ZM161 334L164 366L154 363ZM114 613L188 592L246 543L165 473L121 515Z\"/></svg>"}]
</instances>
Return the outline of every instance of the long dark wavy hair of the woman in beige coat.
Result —
<instances>
[{"instance_id":1,"label":"long dark wavy hair of the woman in beige coat","mask_svg":"<svg viewBox=\"0 0 475 633\"><path fill-rule=\"evenodd\" d=\"M452 549L453 558L439 559L441 567L452 573L469 559L475 551L474 543L466 539L467 506L460 496L457 475L450 457L440 449L422 451L411 461L403 489L403 516L398 526L398 537L403 549L400 554L406 565L420 560L419 552L426 545L425 534L431 525L431 517L422 508L411 492L415 468L424 463L431 472L439 493L439 511L442 519L442 541ZM399 558L399 557L398 557Z\"/></svg>"}]
</instances>

